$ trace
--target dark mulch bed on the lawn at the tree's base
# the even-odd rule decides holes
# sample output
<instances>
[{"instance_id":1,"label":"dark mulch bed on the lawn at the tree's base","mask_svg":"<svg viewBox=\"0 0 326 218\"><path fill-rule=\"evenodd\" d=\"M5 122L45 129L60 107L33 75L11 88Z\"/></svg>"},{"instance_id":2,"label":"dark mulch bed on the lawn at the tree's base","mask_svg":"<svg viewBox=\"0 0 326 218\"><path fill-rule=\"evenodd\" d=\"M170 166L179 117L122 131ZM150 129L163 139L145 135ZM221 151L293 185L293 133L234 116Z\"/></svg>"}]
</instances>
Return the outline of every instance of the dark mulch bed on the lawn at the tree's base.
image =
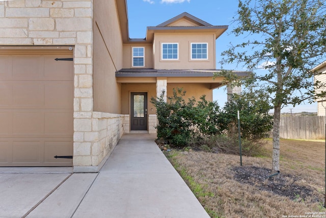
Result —
<instances>
[{"instance_id":1,"label":"dark mulch bed on the lawn at the tree's base","mask_svg":"<svg viewBox=\"0 0 326 218\"><path fill-rule=\"evenodd\" d=\"M269 177L270 169L256 166L236 166L233 167L233 171L236 181L255 186L259 190L273 192L295 201L305 201L307 197L312 197L313 189L311 187L294 184L296 181L302 180L300 177L282 173ZM319 200L312 198L312 201L318 202Z\"/></svg>"}]
</instances>

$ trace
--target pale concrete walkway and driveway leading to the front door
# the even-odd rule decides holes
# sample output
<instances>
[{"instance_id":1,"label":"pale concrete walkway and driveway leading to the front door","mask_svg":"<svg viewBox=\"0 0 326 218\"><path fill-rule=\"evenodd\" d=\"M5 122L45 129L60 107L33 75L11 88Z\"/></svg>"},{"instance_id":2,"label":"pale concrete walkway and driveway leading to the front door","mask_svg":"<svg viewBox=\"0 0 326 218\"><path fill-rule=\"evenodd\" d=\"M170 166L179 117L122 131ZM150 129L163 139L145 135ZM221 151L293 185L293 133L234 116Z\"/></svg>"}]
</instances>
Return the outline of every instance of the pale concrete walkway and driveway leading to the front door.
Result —
<instances>
[{"instance_id":1,"label":"pale concrete walkway and driveway leading to the front door","mask_svg":"<svg viewBox=\"0 0 326 218\"><path fill-rule=\"evenodd\" d=\"M154 138L124 135L99 173L0 168L0 217L209 217Z\"/></svg>"}]
</instances>

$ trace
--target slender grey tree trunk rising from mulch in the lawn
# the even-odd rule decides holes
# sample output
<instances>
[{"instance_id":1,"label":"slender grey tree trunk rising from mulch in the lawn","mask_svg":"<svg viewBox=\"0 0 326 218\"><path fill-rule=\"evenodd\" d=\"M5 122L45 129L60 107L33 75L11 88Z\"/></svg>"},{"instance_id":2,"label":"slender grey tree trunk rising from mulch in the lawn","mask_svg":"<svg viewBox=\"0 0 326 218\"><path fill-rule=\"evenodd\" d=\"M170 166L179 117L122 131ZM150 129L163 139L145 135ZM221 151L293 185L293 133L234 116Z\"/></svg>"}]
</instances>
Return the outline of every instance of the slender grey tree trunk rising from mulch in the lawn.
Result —
<instances>
[{"instance_id":1,"label":"slender grey tree trunk rising from mulch in the lawn","mask_svg":"<svg viewBox=\"0 0 326 218\"><path fill-rule=\"evenodd\" d=\"M281 106L274 107L274 124L273 124L273 162L272 173L280 171L280 119Z\"/></svg>"}]
</instances>

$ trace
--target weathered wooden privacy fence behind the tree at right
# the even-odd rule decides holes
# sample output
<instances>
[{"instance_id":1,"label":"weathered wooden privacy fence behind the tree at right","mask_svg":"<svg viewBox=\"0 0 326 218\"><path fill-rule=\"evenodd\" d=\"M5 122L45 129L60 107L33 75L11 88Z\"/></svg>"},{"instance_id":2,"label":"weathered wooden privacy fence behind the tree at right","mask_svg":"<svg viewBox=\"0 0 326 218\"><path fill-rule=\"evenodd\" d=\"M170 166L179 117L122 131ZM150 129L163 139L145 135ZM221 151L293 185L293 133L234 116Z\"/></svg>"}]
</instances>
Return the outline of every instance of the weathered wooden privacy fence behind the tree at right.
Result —
<instances>
[{"instance_id":1,"label":"weathered wooden privacy fence behind the tree at right","mask_svg":"<svg viewBox=\"0 0 326 218\"><path fill-rule=\"evenodd\" d=\"M270 137L273 135L270 132ZM286 139L325 139L324 116L283 116L280 137Z\"/></svg>"}]
</instances>

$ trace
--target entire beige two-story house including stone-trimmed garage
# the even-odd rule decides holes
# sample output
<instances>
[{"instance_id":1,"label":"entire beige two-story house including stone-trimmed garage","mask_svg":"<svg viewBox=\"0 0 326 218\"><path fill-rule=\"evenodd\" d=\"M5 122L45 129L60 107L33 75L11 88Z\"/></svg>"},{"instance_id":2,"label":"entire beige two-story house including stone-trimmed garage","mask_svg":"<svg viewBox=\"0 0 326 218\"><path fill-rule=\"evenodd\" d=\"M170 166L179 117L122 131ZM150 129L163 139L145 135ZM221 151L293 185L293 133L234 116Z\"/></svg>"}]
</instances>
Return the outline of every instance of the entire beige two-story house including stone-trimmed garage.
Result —
<instances>
[{"instance_id":1,"label":"entire beige two-story house including stone-trimmed garage","mask_svg":"<svg viewBox=\"0 0 326 218\"><path fill-rule=\"evenodd\" d=\"M127 17L120 0L0 1L0 166L97 172L122 134L156 132L151 96L212 100L227 26L183 13L130 39Z\"/></svg>"}]
</instances>

